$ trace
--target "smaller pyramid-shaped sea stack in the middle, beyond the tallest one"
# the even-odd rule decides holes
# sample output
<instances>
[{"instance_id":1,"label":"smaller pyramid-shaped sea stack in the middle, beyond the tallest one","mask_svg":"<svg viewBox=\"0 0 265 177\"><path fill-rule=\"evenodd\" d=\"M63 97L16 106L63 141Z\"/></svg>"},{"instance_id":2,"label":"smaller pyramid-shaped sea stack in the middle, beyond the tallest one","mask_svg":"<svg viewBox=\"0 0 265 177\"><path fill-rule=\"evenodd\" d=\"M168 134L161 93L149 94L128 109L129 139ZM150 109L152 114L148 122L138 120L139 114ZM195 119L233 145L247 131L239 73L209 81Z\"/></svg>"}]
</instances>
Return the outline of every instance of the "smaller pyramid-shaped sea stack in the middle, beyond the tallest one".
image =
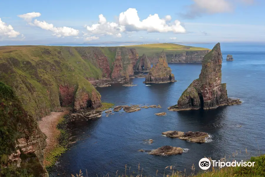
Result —
<instances>
[{"instance_id":1,"label":"smaller pyramid-shaped sea stack in the middle, beyond the tallest one","mask_svg":"<svg viewBox=\"0 0 265 177\"><path fill-rule=\"evenodd\" d=\"M168 67L167 57L164 50L159 56L158 63L153 65L143 83L168 83L175 82L175 76Z\"/></svg>"}]
</instances>

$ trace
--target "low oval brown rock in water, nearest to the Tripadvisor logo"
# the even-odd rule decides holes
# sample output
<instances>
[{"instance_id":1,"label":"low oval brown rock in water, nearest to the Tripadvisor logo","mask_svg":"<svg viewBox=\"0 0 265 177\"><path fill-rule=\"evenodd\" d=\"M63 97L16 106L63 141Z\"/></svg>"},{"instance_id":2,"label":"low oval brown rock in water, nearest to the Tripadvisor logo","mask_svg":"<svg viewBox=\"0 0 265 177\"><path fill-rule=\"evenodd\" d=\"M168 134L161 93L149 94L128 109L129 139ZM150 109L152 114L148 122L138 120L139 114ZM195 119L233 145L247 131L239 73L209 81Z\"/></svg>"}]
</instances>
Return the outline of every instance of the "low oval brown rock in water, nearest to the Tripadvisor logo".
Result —
<instances>
[{"instance_id":1,"label":"low oval brown rock in water, nearest to the Tripadvisor logo","mask_svg":"<svg viewBox=\"0 0 265 177\"><path fill-rule=\"evenodd\" d=\"M176 154L182 154L183 150L182 148L178 147L172 147L172 146L162 146L161 148L152 150L150 155L176 155Z\"/></svg>"}]
</instances>

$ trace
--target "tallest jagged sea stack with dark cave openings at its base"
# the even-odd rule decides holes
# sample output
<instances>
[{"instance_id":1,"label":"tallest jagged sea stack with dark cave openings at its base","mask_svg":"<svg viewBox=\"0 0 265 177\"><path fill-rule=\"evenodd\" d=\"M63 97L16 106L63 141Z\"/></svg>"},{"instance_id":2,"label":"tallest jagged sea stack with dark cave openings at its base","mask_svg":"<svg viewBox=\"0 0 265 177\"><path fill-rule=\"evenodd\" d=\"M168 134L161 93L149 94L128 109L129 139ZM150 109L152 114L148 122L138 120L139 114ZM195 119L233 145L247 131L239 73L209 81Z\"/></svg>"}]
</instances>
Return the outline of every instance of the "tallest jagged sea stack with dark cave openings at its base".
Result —
<instances>
[{"instance_id":1,"label":"tallest jagged sea stack with dark cave openings at its base","mask_svg":"<svg viewBox=\"0 0 265 177\"><path fill-rule=\"evenodd\" d=\"M199 78L182 93L178 104L168 109L171 111L213 109L223 105L241 104L239 99L228 98L226 83L221 83L221 59L220 43L217 43L213 50L204 56Z\"/></svg>"}]
</instances>

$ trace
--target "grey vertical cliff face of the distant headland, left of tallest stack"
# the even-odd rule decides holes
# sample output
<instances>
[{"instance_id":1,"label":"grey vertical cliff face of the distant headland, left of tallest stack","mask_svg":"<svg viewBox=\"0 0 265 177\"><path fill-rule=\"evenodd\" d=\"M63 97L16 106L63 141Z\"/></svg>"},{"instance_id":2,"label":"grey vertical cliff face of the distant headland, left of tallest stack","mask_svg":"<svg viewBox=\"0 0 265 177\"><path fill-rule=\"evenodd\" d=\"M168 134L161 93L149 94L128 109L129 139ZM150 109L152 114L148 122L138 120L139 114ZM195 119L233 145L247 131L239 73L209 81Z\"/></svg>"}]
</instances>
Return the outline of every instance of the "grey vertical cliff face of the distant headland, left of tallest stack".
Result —
<instances>
[{"instance_id":1,"label":"grey vertical cliff face of the distant headland, left of tallest stack","mask_svg":"<svg viewBox=\"0 0 265 177\"><path fill-rule=\"evenodd\" d=\"M208 50L189 51L182 54L167 55L168 63L202 62Z\"/></svg>"}]
</instances>

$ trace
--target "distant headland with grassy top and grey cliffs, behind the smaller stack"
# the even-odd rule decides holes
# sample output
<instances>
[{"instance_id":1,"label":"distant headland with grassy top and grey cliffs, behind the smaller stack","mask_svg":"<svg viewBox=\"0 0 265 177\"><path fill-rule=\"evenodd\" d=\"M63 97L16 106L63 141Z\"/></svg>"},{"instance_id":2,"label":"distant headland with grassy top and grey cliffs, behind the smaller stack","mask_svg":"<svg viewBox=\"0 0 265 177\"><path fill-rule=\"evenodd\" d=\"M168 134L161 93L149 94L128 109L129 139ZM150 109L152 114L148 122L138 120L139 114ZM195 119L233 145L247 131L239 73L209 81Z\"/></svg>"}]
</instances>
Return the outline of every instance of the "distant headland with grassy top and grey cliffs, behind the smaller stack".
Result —
<instances>
[{"instance_id":1,"label":"distant headland with grassy top and grey cliffs, behind the smaller stack","mask_svg":"<svg viewBox=\"0 0 265 177\"><path fill-rule=\"evenodd\" d=\"M168 63L202 62L203 57L211 50L172 43L132 45L139 55L145 54L150 63L158 63L160 51L164 49Z\"/></svg>"}]
</instances>

